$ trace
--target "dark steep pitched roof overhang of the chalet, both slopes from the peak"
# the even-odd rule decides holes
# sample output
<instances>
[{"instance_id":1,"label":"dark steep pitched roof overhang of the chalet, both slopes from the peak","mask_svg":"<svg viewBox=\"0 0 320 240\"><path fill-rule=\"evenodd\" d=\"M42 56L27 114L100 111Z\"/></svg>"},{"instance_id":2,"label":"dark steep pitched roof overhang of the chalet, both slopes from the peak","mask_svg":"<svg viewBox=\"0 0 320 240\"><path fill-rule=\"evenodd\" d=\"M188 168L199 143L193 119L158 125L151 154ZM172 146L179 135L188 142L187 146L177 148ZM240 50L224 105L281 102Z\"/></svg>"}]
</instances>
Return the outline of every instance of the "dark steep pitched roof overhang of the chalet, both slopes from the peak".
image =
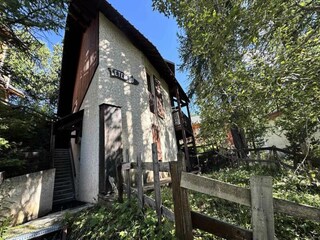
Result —
<instances>
[{"instance_id":1,"label":"dark steep pitched roof overhang of the chalet, both slopes from the peak","mask_svg":"<svg viewBox=\"0 0 320 240\"><path fill-rule=\"evenodd\" d=\"M64 116L71 112L72 92L77 71L79 52L81 47L81 37L89 26L91 20L99 13L111 21L121 30L132 44L138 48L158 71L169 85L170 91L174 91L177 86L180 97L189 102L189 99L182 87L176 80L170 64L165 61L157 48L141 34L131 23L129 23L111 4L105 0L73 0L69 6L66 33L64 39L64 51L62 59L61 81L58 115ZM174 92L171 92L175 95ZM68 106L70 104L70 106Z\"/></svg>"}]
</instances>

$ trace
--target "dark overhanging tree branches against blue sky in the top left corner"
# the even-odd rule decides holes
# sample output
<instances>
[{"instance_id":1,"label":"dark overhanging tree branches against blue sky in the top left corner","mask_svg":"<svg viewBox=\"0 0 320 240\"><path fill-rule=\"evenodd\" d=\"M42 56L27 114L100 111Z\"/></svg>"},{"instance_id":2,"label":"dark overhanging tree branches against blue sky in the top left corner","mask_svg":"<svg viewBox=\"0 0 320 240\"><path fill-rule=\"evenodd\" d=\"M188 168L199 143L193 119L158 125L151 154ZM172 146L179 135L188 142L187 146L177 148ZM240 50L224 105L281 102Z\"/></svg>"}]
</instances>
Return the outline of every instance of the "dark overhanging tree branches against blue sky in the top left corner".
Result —
<instances>
[{"instance_id":1,"label":"dark overhanging tree branches against blue sky in the top left corner","mask_svg":"<svg viewBox=\"0 0 320 240\"><path fill-rule=\"evenodd\" d=\"M2 0L0 43L32 54L30 46L41 34L45 31L58 33L64 28L66 3L67 0Z\"/></svg>"}]
</instances>

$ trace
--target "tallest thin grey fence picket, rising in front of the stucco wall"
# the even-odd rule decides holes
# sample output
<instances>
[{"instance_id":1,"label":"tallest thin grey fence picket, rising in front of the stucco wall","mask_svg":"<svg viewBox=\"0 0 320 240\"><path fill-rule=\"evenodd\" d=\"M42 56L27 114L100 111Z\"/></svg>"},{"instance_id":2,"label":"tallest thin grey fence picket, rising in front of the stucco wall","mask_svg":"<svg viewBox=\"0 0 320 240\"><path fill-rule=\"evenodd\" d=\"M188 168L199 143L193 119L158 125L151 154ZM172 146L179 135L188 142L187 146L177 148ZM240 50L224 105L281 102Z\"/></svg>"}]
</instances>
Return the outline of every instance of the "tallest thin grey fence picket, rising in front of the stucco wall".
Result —
<instances>
[{"instance_id":1,"label":"tallest thin grey fence picket, rising in front of the stucco wall","mask_svg":"<svg viewBox=\"0 0 320 240\"><path fill-rule=\"evenodd\" d=\"M156 212L158 217L158 224L161 223L161 191L160 191L160 174L159 174L159 161L157 153L157 145L152 143L152 161L153 161L153 182L154 194L156 202Z\"/></svg>"}]
</instances>

